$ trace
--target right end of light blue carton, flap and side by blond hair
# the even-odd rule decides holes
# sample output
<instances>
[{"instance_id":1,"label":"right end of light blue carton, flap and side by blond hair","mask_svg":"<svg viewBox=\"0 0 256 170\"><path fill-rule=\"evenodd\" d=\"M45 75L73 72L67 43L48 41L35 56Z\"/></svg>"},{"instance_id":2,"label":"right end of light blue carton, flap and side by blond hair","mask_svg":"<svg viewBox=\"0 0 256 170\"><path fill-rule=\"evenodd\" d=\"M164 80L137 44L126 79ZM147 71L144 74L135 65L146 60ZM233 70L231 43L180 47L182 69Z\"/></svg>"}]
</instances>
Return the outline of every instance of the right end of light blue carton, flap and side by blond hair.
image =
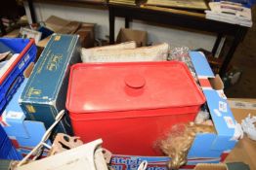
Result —
<instances>
[{"instance_id":1,"label":"right end of light blue carton, flap and side by blond hair","mask_svg":"<svg viewBox=\"0 0 256 170\"><path fill-rule=\"evenodd\" d=\"M196 135L189 157L225 158L240 136L235 136L235 118L224 94L224 85L219 76L214 76L202 52L192 51L190 55L217 134Z\"/></svg>"}]
</instances>

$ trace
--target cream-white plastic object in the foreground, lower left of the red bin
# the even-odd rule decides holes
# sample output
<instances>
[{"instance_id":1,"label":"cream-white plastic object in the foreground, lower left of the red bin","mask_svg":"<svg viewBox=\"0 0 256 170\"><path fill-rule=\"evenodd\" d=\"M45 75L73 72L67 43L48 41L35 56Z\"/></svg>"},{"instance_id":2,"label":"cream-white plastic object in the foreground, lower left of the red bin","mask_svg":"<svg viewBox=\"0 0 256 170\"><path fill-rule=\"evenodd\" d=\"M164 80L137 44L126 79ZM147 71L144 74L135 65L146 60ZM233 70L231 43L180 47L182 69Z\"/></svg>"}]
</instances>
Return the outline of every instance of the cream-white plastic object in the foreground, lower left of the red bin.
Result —
<instances>
[{"instance_id":1,"label":"cream-white plastic object in the foreground, lower left of the red bin","mask_svg":"<svg viewBox=\"0 0 256 170\"><path fill-rule=\"evenodd\" d=\"M107 170L102 139L18 167L17 170Z\"/></svg>"}]
</instances>

